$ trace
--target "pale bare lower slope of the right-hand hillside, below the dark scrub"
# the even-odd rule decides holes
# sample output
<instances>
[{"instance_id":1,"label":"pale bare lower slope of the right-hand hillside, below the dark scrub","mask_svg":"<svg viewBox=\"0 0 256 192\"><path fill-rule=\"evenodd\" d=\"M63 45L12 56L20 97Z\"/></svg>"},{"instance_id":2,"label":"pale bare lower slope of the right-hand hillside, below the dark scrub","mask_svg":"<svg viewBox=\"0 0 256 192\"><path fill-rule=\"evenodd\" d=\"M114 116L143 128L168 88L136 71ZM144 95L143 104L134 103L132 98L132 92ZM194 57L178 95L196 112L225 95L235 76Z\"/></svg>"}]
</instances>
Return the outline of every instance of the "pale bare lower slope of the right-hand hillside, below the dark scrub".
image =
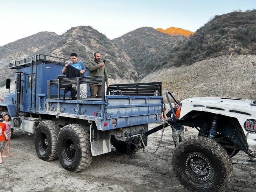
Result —
<instances>
[{"instance_id":1,"label":"pale bare lower slope of the right-hand hillside, below the dark scrub","mask_svg":"<svg viewBox=\"0 0 256 192\"><path fill-rule=\"evenodd\" d=\"M162 82L163 94L170 91L180 100L193 96L256 98L255 71L255 55L226 55L158 70L142 82Z\"/></svg>"}]
</instances>

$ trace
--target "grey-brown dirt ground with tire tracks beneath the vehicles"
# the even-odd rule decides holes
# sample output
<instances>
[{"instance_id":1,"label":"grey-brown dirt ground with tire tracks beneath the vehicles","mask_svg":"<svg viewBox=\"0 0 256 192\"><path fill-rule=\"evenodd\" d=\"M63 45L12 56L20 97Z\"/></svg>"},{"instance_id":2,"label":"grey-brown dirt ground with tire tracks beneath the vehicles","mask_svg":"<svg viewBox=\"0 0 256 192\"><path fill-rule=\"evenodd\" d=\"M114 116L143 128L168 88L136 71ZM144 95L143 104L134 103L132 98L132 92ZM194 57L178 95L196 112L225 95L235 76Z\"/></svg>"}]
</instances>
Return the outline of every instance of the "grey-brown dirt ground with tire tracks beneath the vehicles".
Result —
<instances>
[{"instance_id":1,"label":"grey-brown dirt ground with tire tracks beneath the vehicles","mask_svg":"<svg viewBox=\"0 0 256 192\"><path fill-rule=\"evenodd\" d=\"M150 124L153 128L158 124ZM153 152L162 131L149 136L147 149ZM196 135L190 128L186 137ZM140 150L132 156L120 154L114 148L112 152L95 156L90 167L80 173L65 170L59 161L40 160L34 148L34 136L14 132L11 140L13 156L3 159L0 164L0 191L107 191L107 192L186 192L178 182L172 170L171 130L165 128L162 143L155 154ZM248 160L244 152L239 152L232 160ZM255 165L233 164L233 175L226 191L255 192Z\"/></svg>"}]
</instances>

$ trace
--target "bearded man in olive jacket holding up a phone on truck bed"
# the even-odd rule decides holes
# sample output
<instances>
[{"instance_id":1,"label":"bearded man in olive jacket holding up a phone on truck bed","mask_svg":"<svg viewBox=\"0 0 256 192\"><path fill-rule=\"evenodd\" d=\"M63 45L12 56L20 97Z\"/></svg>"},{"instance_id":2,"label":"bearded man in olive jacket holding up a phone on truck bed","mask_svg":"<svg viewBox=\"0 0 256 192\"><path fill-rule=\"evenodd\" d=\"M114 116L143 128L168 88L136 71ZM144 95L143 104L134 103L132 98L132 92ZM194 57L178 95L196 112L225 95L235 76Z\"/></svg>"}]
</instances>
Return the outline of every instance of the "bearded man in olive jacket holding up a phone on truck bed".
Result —
<instances>
[{"instance_id":1,"label":"bearded man in olive jacket holding up a phone on truck bed","mask_svg":"<svg viewBox=\"0 0 256 192\"><path fill-rule=\"evenodd\" d=\"M104 62L100 62L100 53L95 52L94 60L88 63L90 76L105 75L106 86L108 87L108 73ZM102 97L102 84L90 84L91 98Z\"/></svg>"}]
</instances>

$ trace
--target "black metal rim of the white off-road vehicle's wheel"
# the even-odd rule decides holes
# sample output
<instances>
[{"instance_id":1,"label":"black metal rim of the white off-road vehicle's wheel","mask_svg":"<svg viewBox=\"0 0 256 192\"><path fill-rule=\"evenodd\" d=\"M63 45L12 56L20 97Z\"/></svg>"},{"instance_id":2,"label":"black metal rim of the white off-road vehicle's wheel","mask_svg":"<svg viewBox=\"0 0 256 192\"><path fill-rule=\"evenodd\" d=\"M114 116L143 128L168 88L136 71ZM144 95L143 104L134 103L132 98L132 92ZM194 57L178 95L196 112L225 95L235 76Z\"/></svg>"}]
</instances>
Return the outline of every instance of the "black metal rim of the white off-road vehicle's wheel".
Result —
<instances>
[{"instance_id":1,"label":"black metal rim of the white off-road vehicle's wheel","mask_svg":"<svg viewBox=\"0 0 256 192\"><path fill-rule=\"evenodd\" d=\"M185 172L189 178L196 182L207 182L213 174L210 161L202 154L192 153L186 157Z\"/></svg>"}]
</instances>

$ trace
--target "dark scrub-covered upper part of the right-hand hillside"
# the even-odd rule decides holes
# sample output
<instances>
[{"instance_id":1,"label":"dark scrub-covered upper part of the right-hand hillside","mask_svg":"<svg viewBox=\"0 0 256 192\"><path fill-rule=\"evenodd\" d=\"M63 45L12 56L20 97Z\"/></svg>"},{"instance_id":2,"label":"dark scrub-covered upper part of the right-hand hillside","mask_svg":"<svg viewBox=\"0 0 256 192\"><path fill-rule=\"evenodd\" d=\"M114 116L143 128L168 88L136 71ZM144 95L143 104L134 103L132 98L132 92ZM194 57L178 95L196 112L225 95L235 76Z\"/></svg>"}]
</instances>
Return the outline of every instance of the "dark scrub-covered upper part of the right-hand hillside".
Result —
<instances>
[{"instance_id":1,"label":"dark scrub-covered upper part of the right-hand hillside","mask_svg":"<svg viewBox=\"0 0 256 192\"><path fill-rule=\"evenodd\" d=\"M256 10L217 15L175 46L162 66L190 65L230 54L256 53Z\"/></svg>"}]
</instances>

